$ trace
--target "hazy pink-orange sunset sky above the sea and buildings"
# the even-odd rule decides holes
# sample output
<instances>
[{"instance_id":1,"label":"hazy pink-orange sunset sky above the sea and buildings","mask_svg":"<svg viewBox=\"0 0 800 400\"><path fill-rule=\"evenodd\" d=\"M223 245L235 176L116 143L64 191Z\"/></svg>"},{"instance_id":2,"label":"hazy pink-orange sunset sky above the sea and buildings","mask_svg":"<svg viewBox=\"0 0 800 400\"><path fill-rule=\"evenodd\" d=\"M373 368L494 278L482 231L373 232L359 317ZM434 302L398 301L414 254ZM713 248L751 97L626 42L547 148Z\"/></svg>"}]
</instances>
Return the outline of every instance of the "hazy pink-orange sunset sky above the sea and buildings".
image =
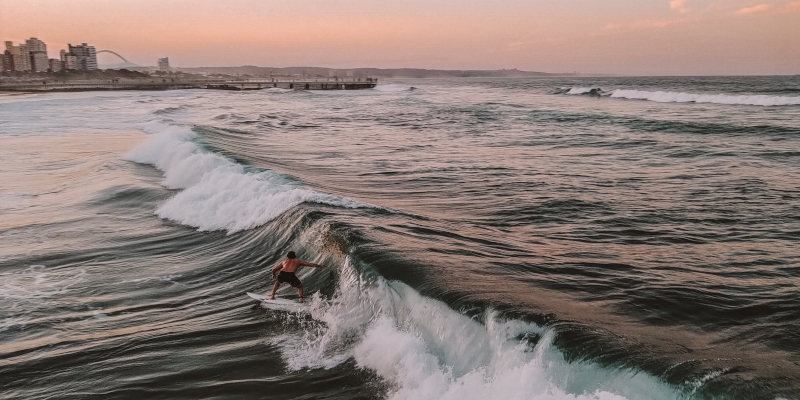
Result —
<instances>
[{"instance_id":1,"label":"hazy pink-orange sunset sky above the sea and buildings","mask_svg":"<svg viewBox=\"0 0 800 400\"><path fill-rule=\"evenodd\" d=\"M0 39L29 37L178 67L800 74L798 0L0 0Z\"/></svg>"}]
</instances>

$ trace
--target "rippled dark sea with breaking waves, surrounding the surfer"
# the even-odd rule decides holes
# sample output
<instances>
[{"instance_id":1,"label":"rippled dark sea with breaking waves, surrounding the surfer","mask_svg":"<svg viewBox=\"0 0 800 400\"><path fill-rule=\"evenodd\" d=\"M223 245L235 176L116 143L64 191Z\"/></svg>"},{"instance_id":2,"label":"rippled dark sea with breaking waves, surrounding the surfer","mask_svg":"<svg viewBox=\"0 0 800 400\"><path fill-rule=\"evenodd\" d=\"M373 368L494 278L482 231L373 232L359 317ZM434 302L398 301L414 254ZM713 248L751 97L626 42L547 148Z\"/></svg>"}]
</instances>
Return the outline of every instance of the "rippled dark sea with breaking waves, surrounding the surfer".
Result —
<instances>
[{"instance_id":1,"label":"rippled dark sea with breaking waves, surrounding the surfer","mask_svg":"<svg viewBox=\"0 0 800 400\"><path fill-rule=\"evenodd\" d=\"M0 96L2 399L800 399L799 285L797 76Z\"/></svg>"}]
</instances>

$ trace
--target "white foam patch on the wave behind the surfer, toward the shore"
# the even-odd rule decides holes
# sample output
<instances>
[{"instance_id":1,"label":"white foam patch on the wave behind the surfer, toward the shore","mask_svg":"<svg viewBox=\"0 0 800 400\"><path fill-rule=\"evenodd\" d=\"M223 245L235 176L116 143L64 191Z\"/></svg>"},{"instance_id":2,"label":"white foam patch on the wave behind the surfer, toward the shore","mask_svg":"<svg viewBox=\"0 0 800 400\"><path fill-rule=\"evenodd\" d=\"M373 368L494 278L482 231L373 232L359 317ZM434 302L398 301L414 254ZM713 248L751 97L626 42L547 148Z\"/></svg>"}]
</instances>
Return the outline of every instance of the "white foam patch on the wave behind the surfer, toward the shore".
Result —
<instances>
[{"instance_id":1,"label":"white foam patch on the wave behind the surfer, toward the shore","mask_svg":"<svg viewBox=\"0 0 800 400\"><path fill-rule=\"evenodd\" d=\"M315 192L272 171L247 171L204 150L194 141L196 136L188 128L162 127L125 156L163 171L166 187L183 189L156 210L161 218L201 231L233 233L262 225L303 202L370 207Z\"/></svg>"}]
</instances>

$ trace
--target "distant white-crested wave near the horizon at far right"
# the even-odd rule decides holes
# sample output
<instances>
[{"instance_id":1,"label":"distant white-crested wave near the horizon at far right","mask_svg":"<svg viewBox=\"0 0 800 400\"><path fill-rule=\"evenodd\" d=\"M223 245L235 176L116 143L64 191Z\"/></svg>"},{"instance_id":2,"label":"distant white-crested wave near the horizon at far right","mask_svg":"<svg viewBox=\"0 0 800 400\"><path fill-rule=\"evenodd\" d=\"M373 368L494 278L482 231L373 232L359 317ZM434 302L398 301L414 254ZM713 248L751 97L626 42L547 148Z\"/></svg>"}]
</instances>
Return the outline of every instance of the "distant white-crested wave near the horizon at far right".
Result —
<instances>
[{"instance_id":1,"label":"distant white-crested wave near the horizon at far right","mask_svg":"<svg viewBox=\"0 0 800 400\"><path fill-rule=\"evenodd\" d=\"M620 99L655 101L658 103L712 103L753 106L800 105L800 96L771 96L763 94L700 94L631 89L615 89L610 92L606 92L600 88L588 87L562 87L556 91L556 94L603 96Z\"/></svg>"}]
</instances>

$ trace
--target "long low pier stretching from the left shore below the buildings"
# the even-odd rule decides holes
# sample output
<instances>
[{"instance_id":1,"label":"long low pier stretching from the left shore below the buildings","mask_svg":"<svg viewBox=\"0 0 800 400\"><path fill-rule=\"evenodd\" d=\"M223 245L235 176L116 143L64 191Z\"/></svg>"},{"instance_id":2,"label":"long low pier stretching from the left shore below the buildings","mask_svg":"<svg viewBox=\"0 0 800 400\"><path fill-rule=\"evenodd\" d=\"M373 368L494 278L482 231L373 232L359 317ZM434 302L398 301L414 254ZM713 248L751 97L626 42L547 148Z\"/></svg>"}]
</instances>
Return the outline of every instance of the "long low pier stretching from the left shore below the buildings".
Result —
<instances>
[{"instance_id":1,"label":"long low pier stretching from the left shore below the buildings","mask_svg":"<svg viewBox=\"0 0 800 400\"><path fill-rule=\"evenodd\" d=\"M181 79L169 77L59 80L39 79L0 81L0 92L78 92L96 90L359 90L371 89L377 78L352 79Z\"/></svg>"}]
</instances>

